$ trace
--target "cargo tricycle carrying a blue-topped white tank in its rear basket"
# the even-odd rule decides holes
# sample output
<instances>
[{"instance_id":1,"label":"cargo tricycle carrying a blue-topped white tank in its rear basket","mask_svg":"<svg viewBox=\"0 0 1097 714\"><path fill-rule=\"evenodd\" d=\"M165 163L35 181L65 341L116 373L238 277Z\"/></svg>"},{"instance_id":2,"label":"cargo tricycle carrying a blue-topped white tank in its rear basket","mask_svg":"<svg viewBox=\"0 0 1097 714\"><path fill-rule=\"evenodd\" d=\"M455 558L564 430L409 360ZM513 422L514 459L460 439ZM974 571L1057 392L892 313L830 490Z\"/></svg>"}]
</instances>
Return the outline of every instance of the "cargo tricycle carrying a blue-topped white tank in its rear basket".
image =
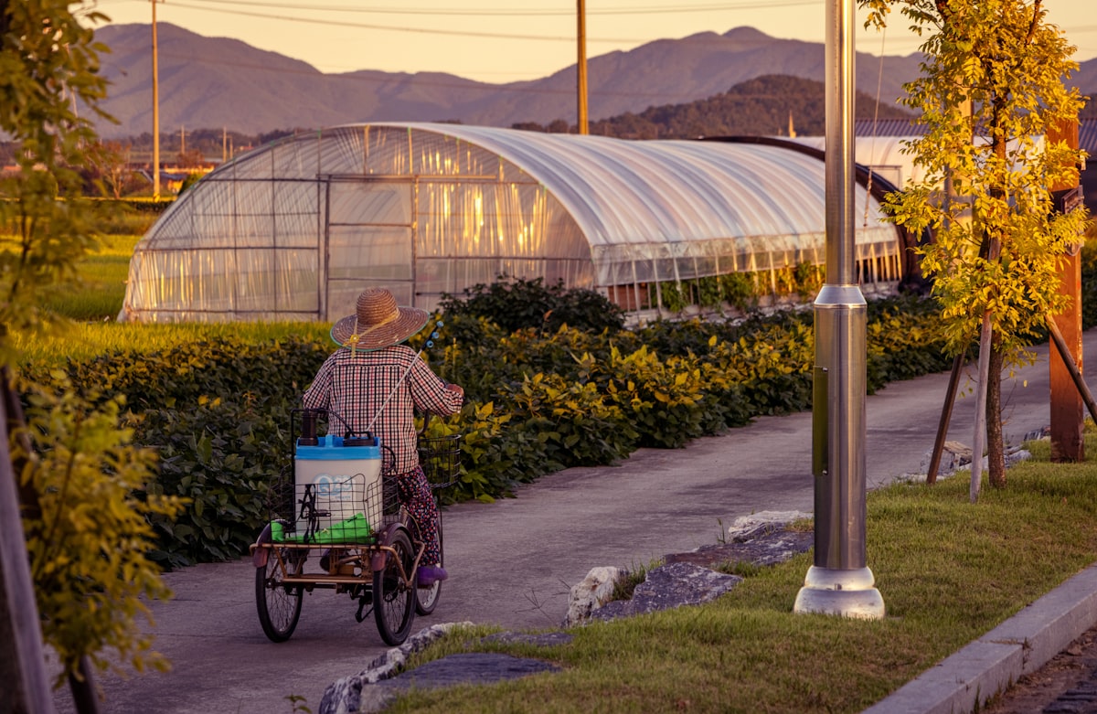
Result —
<instances>
[{"instance_id":1,"label":"cargo tricycle carrying a blue-topped white tank in its rear basket","mask_svg":"<svg viewBox=\"0 0 1097 714\"><path fill-rule=\"evenodd\" d=\"M292 412L290 468L272 484L271 520L251 546L259 623L271 641L285 642L301 617L302 596L329 589L357 602L358 622L372 610L382 639L399 645L416 613L433 612L442 583L417 587L425 544L399 505L385 445L370 433L331 433L330 421L339 420L323 409ZM317 435L320 423L328 433ZM425 432L419 461L437 491L459 477L460 434Z\"/></svg>"}]
</instances>

